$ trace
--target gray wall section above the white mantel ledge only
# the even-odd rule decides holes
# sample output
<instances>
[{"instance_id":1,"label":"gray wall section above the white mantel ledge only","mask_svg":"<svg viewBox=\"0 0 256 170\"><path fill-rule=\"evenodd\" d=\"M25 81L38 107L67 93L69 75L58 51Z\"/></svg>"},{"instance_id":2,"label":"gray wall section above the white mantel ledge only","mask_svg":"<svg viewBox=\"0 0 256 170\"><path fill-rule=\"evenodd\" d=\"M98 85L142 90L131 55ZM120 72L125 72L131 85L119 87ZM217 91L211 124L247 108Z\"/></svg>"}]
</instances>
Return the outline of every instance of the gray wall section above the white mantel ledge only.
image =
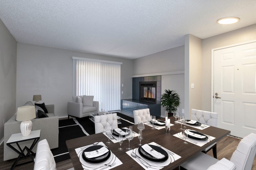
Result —
<instances>
[{"instance_id":1,"label":"gray wall section above the white mantel ledge only","mask_svg":"<svg viewBox=\"0 0 256 170\"><path fill-rule=\"evenodd\" d=\"M184 70L184 45L133 60L133 75Z\"/></svg>"}]
</instances>

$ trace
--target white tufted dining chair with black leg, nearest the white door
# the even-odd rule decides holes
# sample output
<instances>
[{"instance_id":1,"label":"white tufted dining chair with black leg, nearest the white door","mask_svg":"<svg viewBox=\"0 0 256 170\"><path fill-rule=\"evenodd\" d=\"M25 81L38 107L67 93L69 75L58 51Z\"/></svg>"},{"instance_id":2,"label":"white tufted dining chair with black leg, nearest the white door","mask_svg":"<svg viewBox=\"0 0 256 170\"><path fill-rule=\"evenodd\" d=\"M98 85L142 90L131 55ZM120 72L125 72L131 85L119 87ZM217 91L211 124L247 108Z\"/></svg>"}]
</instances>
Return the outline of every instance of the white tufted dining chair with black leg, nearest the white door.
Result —
<instances>
[{"instance_id":1,"label":"white tufted dining chair with black leg, nearest the white door","mask_svg":"<svg viewBox=\"0 0 256 170\"><path fill-rule=\"evenodd\" d=\"M191 120L200 122L201 124L217 127L218 113L191 109ZM212 149L213 157L217 159L217 143L205 148L202 152L207 153Z\"/></svg>"}]
</instances>

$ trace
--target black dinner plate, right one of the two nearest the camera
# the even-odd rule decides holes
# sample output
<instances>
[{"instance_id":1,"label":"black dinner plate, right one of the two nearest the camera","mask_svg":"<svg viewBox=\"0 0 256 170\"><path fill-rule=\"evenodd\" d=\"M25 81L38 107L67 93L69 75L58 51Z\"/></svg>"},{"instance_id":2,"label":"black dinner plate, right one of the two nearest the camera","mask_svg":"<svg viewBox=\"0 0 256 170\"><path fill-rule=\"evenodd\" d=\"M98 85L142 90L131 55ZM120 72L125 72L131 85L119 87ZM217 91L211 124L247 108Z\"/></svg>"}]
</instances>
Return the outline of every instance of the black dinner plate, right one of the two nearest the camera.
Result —
<instances>
[{"instance_id":1,"label":"black dinner plate, right one of the two nearest the camera","mask_svg":"<svg viewBox=\"0 0 256 170\"><path fill-rule=\"evenodd\" d=\"M157 152L160 152L164 155L164 158L162 159L157 159L153 156L151 156L149 153L147 153L141 146L138 148L139 153L141 154L141 156L145 159L151 160L151 161L155 161L155 162L163 162L166 161L168 159L168 154L165 150L163 150L162 148L155 146L155 145L149 145L152 149L156 150Z\"/></svg>"}]
</instances>

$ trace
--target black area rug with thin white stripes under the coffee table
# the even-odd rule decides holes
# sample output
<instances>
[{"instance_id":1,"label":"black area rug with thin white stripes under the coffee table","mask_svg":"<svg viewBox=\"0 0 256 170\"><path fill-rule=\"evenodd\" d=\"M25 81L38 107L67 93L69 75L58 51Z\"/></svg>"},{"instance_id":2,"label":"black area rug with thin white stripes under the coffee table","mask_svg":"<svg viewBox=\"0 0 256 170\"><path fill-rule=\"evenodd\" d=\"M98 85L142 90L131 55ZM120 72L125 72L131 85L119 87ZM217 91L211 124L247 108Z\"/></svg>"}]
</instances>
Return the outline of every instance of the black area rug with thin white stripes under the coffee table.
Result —
<instances>
[{"instance_id":1,"label":"black area rug with thin white stripes under the coffee table","mask_svg":"<svg viewBox=\"0 0 256 170\"><path fill-rule=\"evenodd\" d=\"M122 118L119 120L122 123L118 124L119 128L134 125L133 117L126 116L119 112L115 113ZM76 118L72 119L72 117L71 119L59 120L59 147L51 149L52 154L55 156L54 159L56 163L70 159L68 148L66 146L66 140L87 136L76 122L82 125L83 129L89 135L95 134L94 123L89 119L89 116L83 117L76 122L74 120L76 120ZM133 122L133 124L130 122Z\"/></svg>"}]
</instances>

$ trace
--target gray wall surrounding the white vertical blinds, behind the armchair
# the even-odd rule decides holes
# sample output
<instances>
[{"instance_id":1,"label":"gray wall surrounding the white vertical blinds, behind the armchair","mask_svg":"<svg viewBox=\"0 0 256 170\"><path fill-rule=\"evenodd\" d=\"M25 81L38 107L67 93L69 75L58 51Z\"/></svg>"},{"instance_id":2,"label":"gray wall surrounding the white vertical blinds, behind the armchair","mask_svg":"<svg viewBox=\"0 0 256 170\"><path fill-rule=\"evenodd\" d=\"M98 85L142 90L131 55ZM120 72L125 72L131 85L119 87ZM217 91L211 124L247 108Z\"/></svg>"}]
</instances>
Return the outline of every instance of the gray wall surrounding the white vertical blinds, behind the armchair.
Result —
<instances>
[{"instance_id":1,"label":"gray wall surrounding the white vertical blinds, behind the armchair","mask_svg":"<svg viewBox=\"0 0 256 170\"><path fill-rule=\"evenodd\" d=\"M41 94L40 103L55 104L56 115L67 116L67 102L72 101L72 57L123 62L121 99L132 98L133 61L130 59L17 43L16 106L23 106L33 95Z\"/></svg>"}]
</instances>

